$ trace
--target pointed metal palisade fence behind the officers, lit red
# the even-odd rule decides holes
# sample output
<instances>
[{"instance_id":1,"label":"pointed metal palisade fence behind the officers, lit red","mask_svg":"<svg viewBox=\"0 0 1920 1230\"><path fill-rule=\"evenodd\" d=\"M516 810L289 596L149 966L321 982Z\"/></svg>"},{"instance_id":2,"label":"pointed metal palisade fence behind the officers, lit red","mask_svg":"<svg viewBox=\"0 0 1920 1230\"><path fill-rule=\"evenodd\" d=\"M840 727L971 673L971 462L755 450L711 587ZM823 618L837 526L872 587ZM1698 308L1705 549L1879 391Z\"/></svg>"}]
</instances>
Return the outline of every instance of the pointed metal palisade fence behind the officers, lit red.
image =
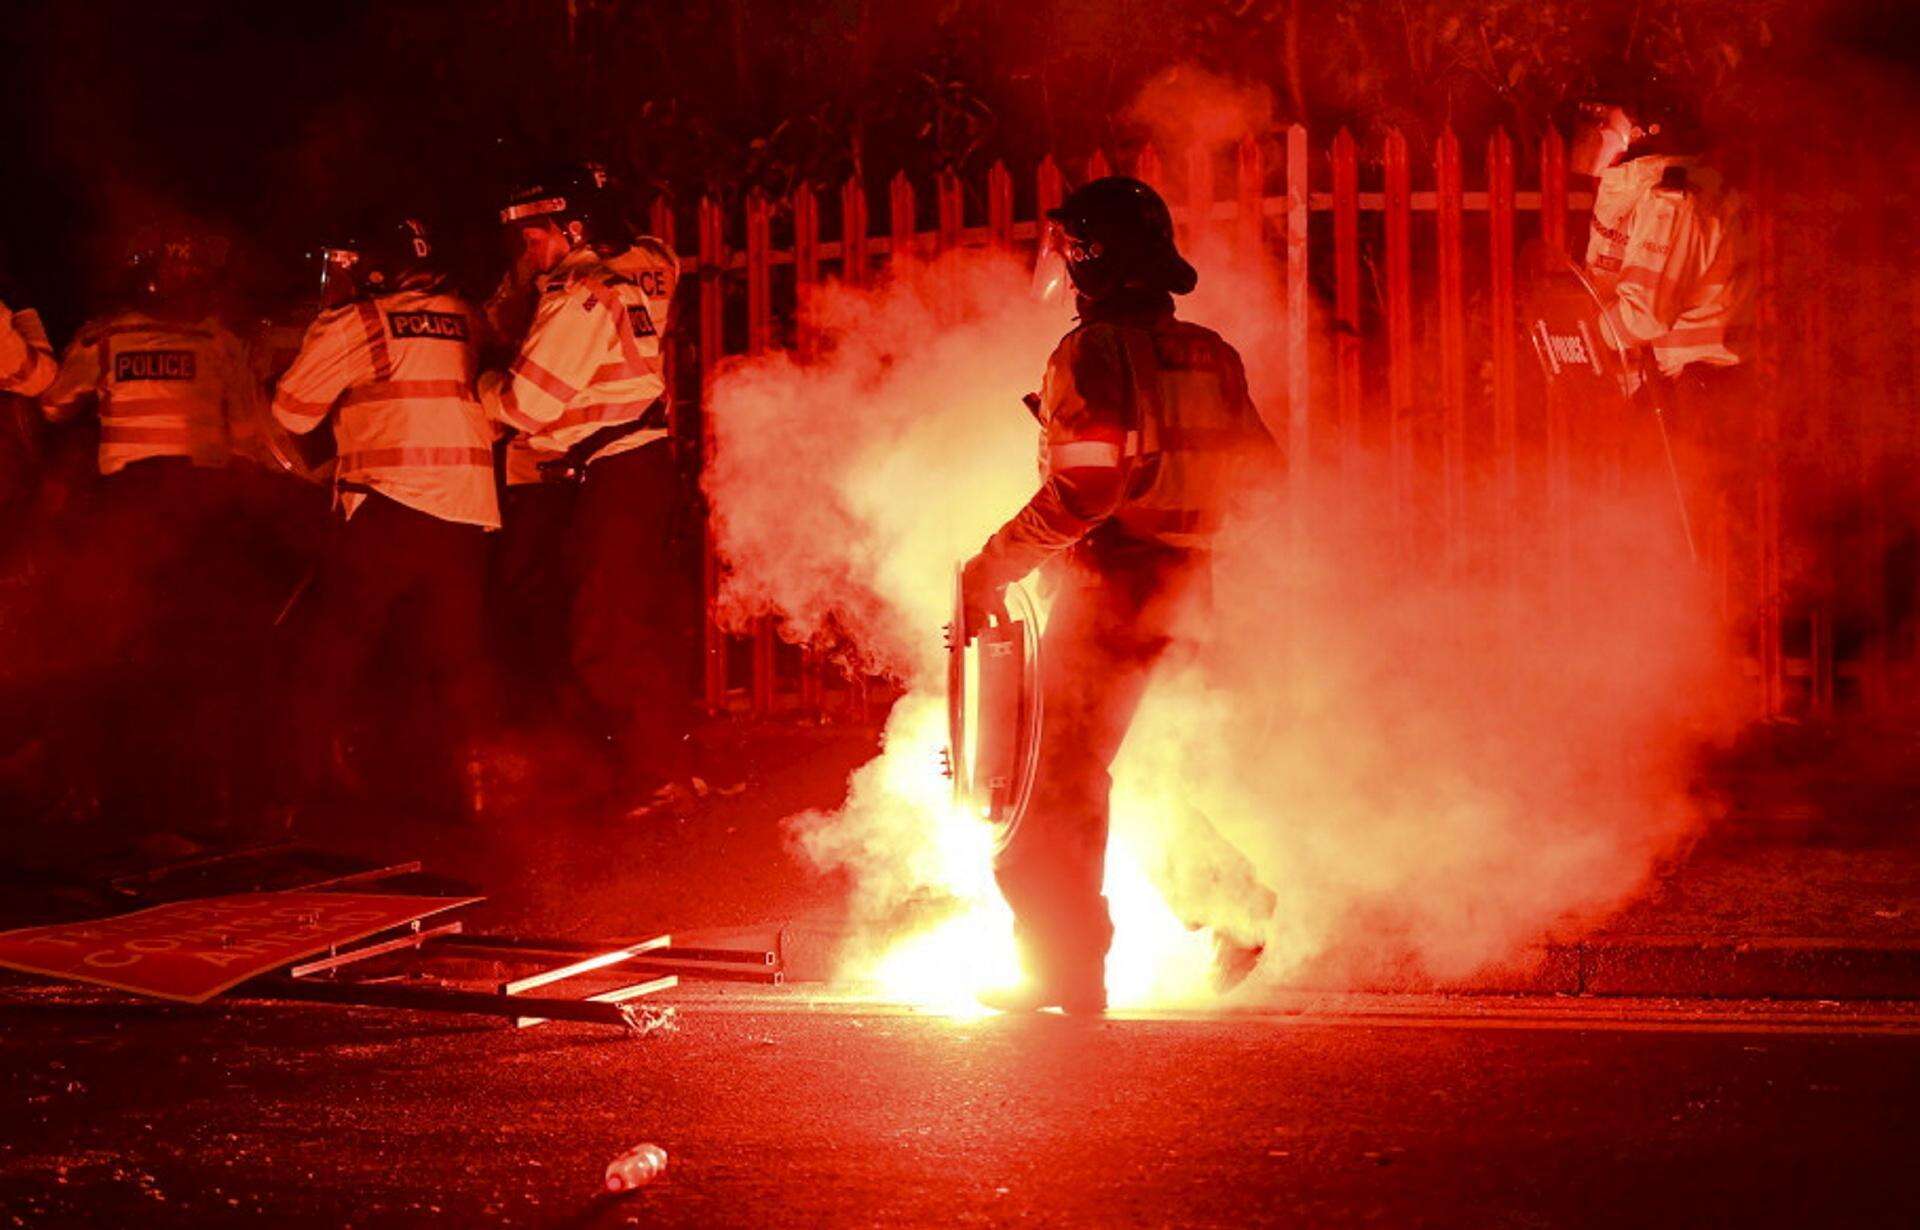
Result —
<instances>
[{"instance_id":1,"label":"pointed metal palisade fence behind the officers, lit red","mask_svg":"<svg viewBox=\"0 0 1920 1230\"><path fill-rule=\"evenodd\" d=\"M1384 457L1394 499L1425 509L1442 547L1526 516L1523 487L1546 491L1544 507L1571 516L1555 505L1565 449L1555 461L1551 447L1528 447L1557 426L1521 322L1523 248L1540 242L1578 255L1586 242L1592 198L1569 190L1563 138L1548 127L1523 148L1494 132L1469 150L1442 132L1432 148L1415 148L1388 130L1367 146L1346 130L1315 146L1292 127L1177 157L1140 148L1125 167L1164 190L1183 230L1219 226L1273 253L1286 303L1284 443L1296 484L1359 464L1369 451ZM1110 169L1094 154L1073 182ZM657 201L651 226L682 249L697 297L697 309L682 313L691 328L672 359L680 403L703 401L722 357L791 345L804 359L814 342L797 307L824 278L868 284L908 255L1031 246L1033 219L1068 182L1048 157L1025 182L1006 165L977 180L943 173L927 186L895 175L883 200L849 182L826 194L753 194L735 207L708 198L676 211ZM1728 566L1724 535L1707 543L1705 558L1728 620L1743 624L1757 716L1893 716L1914 674L1903 551L1912 551L1916 518L1901 474L1920 457L1920 299L1899 272L1910 251L1895 242L1893 205L1786 200L1764 180L1745 188L1759 261L1755 363L1770 395L1753 407L1751 489L1730 495L1745 505L1732 520L1743 526L1747 562ZM693 225L691 249L676 242L676 221ZM1849 236L1843 274L1834 259L1793 259L1836 232ZM1862 328L1866 315L1878 326ZM710 443L697 414L680 422ZM1488 501L1492 516L1475 507ZM705 556L712 712L868 710L879 681L828 668L820 647L785 645L772 620L747 635L722 629L710 543Z\"/></svg>"}]
</instances>

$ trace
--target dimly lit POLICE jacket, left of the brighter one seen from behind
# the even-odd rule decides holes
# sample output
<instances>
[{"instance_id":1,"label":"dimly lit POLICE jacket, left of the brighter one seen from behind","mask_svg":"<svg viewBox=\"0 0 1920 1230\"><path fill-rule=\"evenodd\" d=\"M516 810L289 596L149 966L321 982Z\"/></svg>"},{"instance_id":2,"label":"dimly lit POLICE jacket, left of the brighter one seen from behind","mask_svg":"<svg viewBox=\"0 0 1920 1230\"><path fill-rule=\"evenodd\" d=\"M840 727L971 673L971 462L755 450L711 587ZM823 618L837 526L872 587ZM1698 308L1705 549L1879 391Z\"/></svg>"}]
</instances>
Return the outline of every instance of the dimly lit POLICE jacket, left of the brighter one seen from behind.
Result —
<instances>
[{"instance_id":1,"label":"dimly lit POLICE jacket, left of the brighter one seen from behind","mask_svg":"<svg viewBox=\"0 0 1920 1230\"><path fill-rule=\"evenodd\" d=\"M100 399L102 474L154 457L225 466L236 424L250 424L259 405L246 347L225 326L211 317L180 322L146 311L84 324L40 409L61 422L88 393Z\"/></svg>"}]
</instances>

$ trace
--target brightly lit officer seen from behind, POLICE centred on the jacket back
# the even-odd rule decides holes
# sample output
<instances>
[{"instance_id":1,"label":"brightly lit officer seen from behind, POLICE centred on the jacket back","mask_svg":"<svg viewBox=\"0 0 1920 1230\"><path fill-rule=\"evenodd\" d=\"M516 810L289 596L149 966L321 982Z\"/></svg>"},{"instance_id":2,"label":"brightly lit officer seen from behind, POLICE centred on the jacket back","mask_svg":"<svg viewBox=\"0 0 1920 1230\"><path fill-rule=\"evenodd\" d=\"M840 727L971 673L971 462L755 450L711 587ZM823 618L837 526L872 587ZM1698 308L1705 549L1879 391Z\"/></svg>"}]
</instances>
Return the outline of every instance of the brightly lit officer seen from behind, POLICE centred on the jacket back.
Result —
<instances>
[{"instance_id":1,"label":"brightly lit officer seen from behind, POLICE centred on the jacket back","mask_svg":"<svg viewBox=\"0 0 1920 1230\"><path fill-rule=\"evenodd\" d=\"M300 785L324 785L328 741L405 614L415 635L403 662L440 700L428 785L451 787L493 716L482 589L501 522L493 426L474 393L484 322L438 272L419 219L376 223L317 257L324 309L273 395L280 426L330 426L336 447L340 528L315 581L292 735Z\"/></svg>"}]
</instances>

